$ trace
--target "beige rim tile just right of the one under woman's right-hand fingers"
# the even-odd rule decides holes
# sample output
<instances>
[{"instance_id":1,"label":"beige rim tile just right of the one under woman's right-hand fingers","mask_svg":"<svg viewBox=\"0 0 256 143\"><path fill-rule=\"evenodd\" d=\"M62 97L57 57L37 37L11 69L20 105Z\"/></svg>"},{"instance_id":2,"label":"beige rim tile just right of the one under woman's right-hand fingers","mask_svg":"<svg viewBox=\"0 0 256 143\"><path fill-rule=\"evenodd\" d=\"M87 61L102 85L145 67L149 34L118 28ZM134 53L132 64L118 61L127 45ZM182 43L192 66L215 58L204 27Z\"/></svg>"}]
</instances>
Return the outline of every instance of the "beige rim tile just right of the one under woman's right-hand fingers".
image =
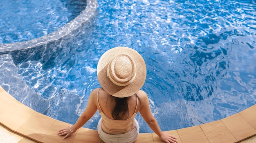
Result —
<instances>
[{"instance_id":1,"label":"beige rim tile just right of the one under woman's right-hand fingers","mask_svg":"<svg viewBox=\"0 0 256 143\"><path fill-rule=\"evenodd\" d=\"M182 143L209 143L200 126L177 130Z\"/></svg>"}]
</instances>

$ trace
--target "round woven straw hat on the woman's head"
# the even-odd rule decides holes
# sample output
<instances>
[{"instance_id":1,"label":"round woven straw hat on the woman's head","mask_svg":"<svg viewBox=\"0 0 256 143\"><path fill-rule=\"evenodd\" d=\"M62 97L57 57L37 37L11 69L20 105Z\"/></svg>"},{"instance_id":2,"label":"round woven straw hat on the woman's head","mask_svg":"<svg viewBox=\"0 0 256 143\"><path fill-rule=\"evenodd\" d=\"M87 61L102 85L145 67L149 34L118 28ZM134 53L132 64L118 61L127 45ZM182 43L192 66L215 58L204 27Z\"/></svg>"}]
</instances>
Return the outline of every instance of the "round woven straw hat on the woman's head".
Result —
<instances>
[{"instance_id":1,"label":"round woven straw hat on the woman's head","mask_svg":"<svg viewBox=\"0 0 256 143\"><path fill-rule=\"evenodd\" d=\"M111 48L97 65L99 84L108 94L119 98L138 92L145 83L146 72L143 57L128 47Z\"/></svg>"}]
</instances>

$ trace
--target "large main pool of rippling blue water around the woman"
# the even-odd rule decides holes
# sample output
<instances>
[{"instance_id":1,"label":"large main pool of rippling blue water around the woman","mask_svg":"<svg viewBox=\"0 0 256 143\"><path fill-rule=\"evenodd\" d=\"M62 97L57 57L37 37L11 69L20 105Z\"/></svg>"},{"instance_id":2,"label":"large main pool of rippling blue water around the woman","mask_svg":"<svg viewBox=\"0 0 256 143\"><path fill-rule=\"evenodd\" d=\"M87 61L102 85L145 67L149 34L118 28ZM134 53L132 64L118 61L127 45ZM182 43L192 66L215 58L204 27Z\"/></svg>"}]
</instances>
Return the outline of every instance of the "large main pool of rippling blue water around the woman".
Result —
<instances>
[{"instance_id":1,"label":"large main pool of rippling blue water around the woman","mask_svg":"<svg viewBox=\"0 0 256 143\"><path fill-rule=\"evenodd\" d=\"M32 90L39 95L38 103L44 103L36 110L74 123L92 89L99 87L99 57L116 46L134 48L144 57L147 79L142 89L162 130L222 119L256 103L254 1L99 0L98 4L95 20L76 34L1 53L1 63L13 62L17 76L28 85L23 92ZM1 86L11 89L9 84ZM31 106L31 100L24 101ZM85 127L96 129L99 118L97 113ZM152 132L140 115L136 119L140 132Z\"/></svg>"}]
</instances>

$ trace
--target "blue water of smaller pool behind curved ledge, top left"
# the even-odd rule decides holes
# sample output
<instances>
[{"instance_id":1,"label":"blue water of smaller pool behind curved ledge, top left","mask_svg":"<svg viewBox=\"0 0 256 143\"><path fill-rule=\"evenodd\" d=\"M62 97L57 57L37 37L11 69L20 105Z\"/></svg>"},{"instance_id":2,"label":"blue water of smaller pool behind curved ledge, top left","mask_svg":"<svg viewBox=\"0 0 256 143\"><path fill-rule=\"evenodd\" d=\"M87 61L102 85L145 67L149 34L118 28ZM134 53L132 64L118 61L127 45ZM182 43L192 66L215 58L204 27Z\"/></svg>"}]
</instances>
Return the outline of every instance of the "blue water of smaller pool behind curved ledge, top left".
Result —
<instances>
[{"instance_id":1,"label":"blue water of smaller pool behind curved ledge, top left","mask_svg":"<svg viewBox=\"0 0 256 143\"><path fill-rule=\"evenodd\" d=\"M27 41L57 31L85 7L86 0L1 0L0 44Z\"/></svg>"}]
</instances>

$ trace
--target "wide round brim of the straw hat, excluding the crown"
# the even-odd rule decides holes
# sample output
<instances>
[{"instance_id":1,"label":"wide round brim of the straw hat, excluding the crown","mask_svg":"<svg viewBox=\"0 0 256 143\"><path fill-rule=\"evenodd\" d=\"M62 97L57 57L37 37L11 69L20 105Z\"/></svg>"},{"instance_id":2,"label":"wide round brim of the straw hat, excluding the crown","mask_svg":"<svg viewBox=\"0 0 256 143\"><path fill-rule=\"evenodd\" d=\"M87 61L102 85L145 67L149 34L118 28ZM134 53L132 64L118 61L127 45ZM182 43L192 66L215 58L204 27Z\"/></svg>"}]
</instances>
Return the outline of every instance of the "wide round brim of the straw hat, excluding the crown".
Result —
<instances>
[{"instance_id":1,"label":"wide round brim of the straw hat, excluding the crown","mask_svg":"<svg viewBox=\"0 0 256 143\"><path fill-rule=\"evenodd\" d=\"M119 54L130 55L136 64L135 80L128 86L117 86L107 76L108 64ZM146 81L146 75L146 64L143 57L137 51L128 47L111 48L101 56L97 65L99 84L108 94L119 98L129 97L138 92Z\"/></svg>"}]
</instances>

